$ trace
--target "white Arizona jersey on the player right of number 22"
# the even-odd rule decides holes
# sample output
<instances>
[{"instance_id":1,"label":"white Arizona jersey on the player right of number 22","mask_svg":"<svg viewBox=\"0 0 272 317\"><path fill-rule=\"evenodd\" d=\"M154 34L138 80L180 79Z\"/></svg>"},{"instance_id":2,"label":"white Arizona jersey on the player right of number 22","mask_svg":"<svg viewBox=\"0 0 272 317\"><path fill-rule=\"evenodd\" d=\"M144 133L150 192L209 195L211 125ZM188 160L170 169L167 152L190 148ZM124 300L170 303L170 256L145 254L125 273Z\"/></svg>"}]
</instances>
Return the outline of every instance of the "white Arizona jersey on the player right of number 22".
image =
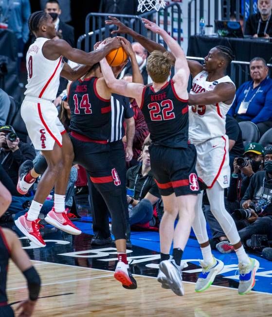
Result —
<instances>
[{"instance_id":1,"label":"white Arizona jersey on the player right of number 22","mask_svg":"<svg viewBox=\"0 0 272 317\"><path fill-rule=\"evenodd\" d=\"M224 76L216 81L206 81L207 71L201 71L193 79L191 94L214 90L220 83L232 83L229 76ZM221 137L226 134L226 114L231 105L222 102L215 105L189 106L189 140L194 144L209 139Z\"/></svg>"}]
</instances>

